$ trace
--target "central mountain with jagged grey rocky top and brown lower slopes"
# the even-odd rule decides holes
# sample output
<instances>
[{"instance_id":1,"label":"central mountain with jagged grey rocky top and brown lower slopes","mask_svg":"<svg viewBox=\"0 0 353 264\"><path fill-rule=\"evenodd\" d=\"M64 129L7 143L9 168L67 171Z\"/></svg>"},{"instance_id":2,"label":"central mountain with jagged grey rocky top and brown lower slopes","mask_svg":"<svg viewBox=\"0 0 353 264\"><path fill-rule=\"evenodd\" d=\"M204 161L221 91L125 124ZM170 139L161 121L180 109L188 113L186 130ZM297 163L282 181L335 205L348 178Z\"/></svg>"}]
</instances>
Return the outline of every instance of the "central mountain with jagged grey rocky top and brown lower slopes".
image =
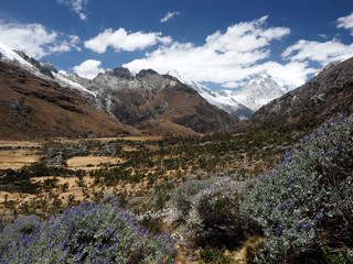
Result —
<instances>
[{"instance_id":1,"label":"central mountain with jagged grey rocky top and brown lower slopes","mask_svg":"<svg viewBox=\"0 0 353 264\"><path fill-rule=\"evenodd\" d=\"M239 123L176 78L152 69L132 76L127 68L115 68L93 80L75 74L67 78L94 92L99 109L147 133L233 131Z\"/></svg>"}]
</instances>

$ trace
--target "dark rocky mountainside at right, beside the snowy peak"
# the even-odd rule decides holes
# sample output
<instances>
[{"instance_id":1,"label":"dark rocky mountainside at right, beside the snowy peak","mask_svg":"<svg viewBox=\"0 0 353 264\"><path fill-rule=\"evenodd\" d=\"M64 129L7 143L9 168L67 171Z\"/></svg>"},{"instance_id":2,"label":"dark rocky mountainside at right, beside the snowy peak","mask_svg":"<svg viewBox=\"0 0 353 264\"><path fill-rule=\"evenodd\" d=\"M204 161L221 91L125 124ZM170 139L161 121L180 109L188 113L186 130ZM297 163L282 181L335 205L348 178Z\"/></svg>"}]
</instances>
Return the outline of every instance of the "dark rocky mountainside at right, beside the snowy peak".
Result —
<instances>
[{"instance_id":1,"label":"dark rocky mountainside at right, beside the snowy peak","mask_svg":"<svg viewBox=\"0 0 353 264\"><path fill-rule=\"evenodd\" d=\"M300 123L353 112L353 58L331 66L303 86L261 107L249 127Z\"/></svg>"}]
</instances>

